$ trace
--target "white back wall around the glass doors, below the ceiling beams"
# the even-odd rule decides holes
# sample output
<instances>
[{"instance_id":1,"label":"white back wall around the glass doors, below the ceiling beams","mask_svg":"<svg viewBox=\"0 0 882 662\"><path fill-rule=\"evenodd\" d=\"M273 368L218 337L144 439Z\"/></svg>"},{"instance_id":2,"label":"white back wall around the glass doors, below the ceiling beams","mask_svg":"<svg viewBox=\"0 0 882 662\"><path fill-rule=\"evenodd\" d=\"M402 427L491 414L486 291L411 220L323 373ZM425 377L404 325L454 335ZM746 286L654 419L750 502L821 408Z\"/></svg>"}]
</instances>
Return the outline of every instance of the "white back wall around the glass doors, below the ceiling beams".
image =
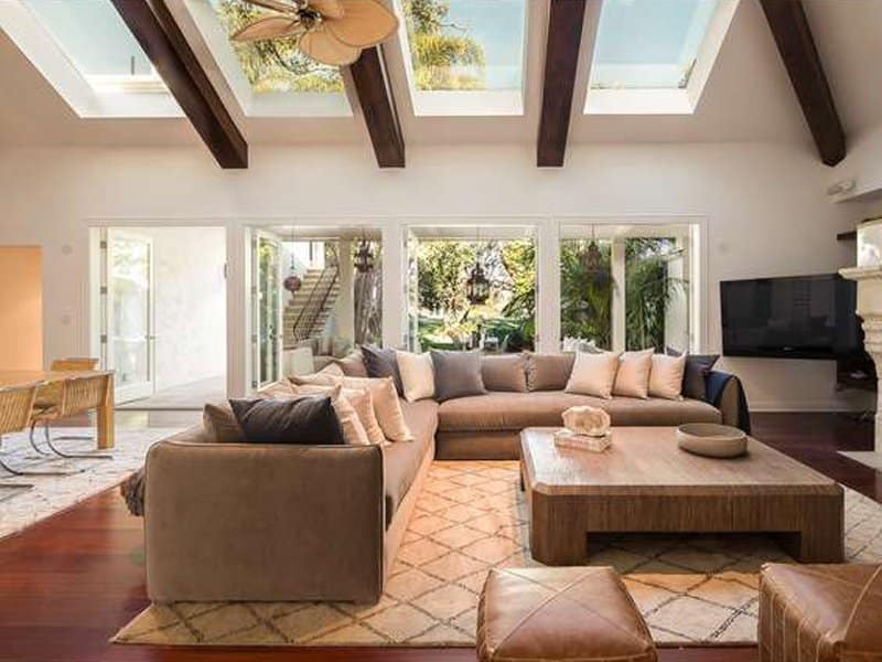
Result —
<instances>
[{"instance_id":1,"label":"white back wall around the glass doors, below the ceiling beams","mask_svg":"<svg viewBox=\"0 0 882 662\"><path fill-rule=\"evenodd\" d=\"M401 264L397 229L416 217L518 216L536 220L547 238L561 216L702 216L704 345L718 351L721 279L832 271L854 261L853 246L837 243L836 233L850 229L860 212L826 200L828 177L809 146L770 143L579 145L559 170L536 169L531 146L411 148L402 171L378 170L364 148L256 148L247 171L222 171L204 150L191 148L11 149L0 152L0 242L45 246L51 356L87 346L90 220L224 220L236 282L244 268L236 247L243 225L379 217L388 322L402 307L392 279ZM236 330L244 296L230 299L230 356L245 353L245 331ZM555 310L539 314L558 317ZM400 330L385 337L400 338ZM829 362L725 363L745 381L756 408L856 405L835 393ZM229 370L234 380L244 378L233 362Z\"/></svg>"}]
</instances>

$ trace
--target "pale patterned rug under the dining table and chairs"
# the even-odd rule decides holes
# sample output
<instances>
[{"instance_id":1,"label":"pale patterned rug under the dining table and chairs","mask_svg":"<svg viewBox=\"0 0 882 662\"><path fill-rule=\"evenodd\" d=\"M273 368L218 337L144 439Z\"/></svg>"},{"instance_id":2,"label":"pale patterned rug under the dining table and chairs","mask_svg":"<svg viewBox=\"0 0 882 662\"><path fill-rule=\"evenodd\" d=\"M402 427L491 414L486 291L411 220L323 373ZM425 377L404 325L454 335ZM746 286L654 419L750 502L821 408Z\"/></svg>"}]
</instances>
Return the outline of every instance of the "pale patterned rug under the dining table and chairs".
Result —
<instances>
[{"instance_id":1,"label":"pale patterned rug under the dining table and chairs","mask_svg":"<svg viewBox=\"0 0 882 662\"><path fill-rule=\"evenodd\" d=\"M29 471L76 471L69 476L3 474L0 485L33 484L33 489L13 490L0 487L0 538L11 535L63 511L98 492L110 488L133 473L144 463L148 448L178 429L149 428L144 430L117 429L116 448L110 460L66 460L37 453L23 433L3 437L3 460L11 467ZM88 428L53 428L53 438L65 435L88 435ZM37 434L41 447L42 435ZM60 440L55 444L67 452L95 450L89 440ZM82 470L82 471L80 471ZM2 470L0 470L2 473Z\"/></svg>"}]
</instances>

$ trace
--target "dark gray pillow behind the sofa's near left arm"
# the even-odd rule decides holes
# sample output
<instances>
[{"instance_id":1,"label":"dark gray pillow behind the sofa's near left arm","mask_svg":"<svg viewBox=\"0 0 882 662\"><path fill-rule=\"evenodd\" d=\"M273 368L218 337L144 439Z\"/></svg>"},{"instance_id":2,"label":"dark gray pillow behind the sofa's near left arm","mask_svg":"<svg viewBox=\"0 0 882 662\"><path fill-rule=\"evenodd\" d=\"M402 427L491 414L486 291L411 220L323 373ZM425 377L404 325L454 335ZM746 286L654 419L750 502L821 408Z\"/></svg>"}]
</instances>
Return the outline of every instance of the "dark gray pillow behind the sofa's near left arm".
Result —
<instances>
[{"instance_id":1,"label":"dark gray pillow behind the sofa's near left arm","mask_svg":"<svg viewBox=\"0 0 882 662\"><path fill-rule=\"evenodd\" d=\"M232 399L229 406L248 444L344 444L343 428L326 395L286 401Z\"/></svg>"}]
</instances>

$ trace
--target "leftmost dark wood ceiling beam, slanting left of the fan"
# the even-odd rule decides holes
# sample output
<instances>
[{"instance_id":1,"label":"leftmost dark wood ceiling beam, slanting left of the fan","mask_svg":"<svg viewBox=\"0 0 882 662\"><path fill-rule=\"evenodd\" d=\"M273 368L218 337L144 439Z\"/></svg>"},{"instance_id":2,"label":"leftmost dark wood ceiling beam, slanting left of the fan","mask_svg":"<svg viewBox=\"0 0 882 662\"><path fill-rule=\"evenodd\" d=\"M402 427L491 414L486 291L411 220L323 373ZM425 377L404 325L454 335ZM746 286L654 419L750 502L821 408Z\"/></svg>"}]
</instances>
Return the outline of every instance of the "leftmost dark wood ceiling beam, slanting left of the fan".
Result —
<instances>
[{"instance_id":1,"label":"leftmost dark wood ceiling beam, slanting left of the fan","mask_svg":"<svg viewBox=\"0 0 882 662\"><path fill-rule=\"evenodd\" d=\"M222 168L248 168L248 143L174 21L165 0L112 0Z\"/></svg>"}]
</instances>

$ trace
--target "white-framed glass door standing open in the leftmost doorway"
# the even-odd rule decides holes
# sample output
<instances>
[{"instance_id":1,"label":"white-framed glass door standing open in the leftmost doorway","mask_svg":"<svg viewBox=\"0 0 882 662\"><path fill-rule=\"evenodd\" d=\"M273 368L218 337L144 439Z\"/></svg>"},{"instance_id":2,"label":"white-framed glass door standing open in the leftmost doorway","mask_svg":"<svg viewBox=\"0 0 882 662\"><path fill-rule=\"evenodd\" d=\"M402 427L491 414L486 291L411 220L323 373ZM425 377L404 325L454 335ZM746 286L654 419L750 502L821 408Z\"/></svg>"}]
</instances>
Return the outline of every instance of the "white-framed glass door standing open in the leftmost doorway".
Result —
<instances>
[{"instance_id":1,"label":"white-framed glass door standing open in the leftmost doorway","mask_svg":"<svg viewBox=\"0 0 882 662\"><path fill-rule=\"evenodd\" d=\"M116 396L153 394L153 245L148 237L112 231L107 241L107 350Z\"/></svg>"}]
</instances>

